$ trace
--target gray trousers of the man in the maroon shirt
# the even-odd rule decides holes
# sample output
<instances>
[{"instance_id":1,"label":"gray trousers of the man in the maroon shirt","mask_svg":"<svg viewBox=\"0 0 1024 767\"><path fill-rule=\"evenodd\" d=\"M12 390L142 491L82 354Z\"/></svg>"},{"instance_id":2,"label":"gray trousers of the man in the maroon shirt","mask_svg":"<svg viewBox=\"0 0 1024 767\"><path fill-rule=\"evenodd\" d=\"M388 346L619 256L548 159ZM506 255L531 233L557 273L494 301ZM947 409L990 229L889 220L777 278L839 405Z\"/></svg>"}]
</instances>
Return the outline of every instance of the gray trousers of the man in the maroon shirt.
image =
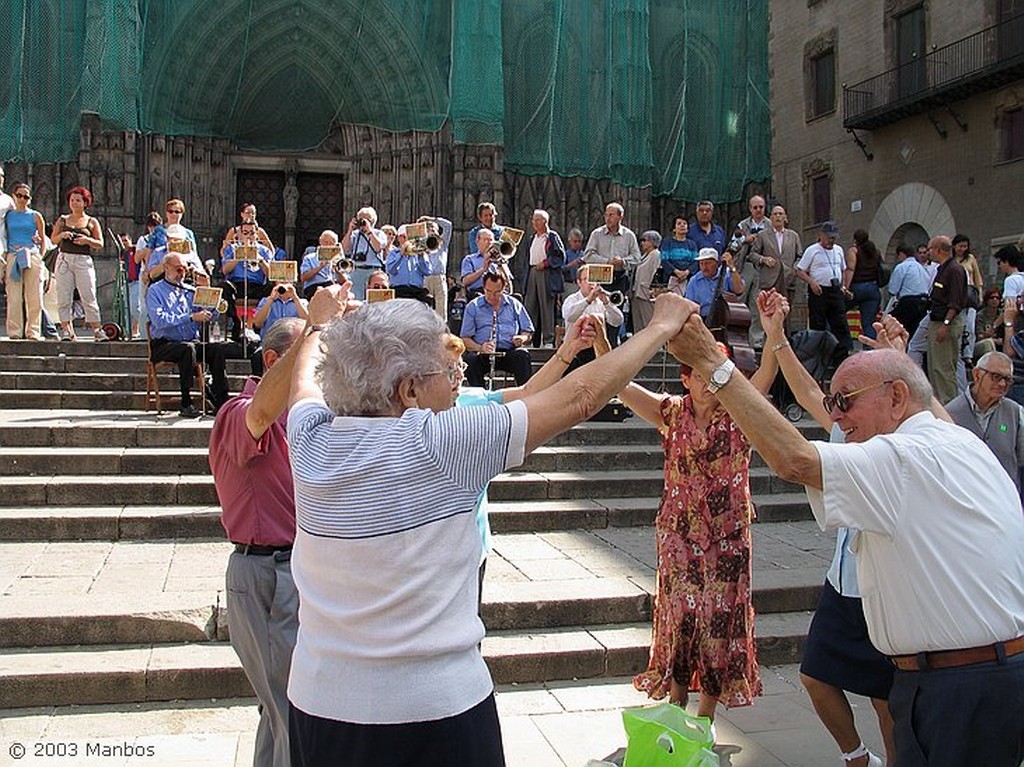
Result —
<instances>
[{"instance_id":1,"label":"gray trousers of the man in the maroon shirt","mask_svg":"<svg viewBox=\"0 0 1024 767\"><path fill-rule=\"evenodd\" d=\"M255 767L289 767L288 675L299 630L299 592L292 554L227 561L227 628L231 646L259 698Z\"/></svg>"}]
</instances>

